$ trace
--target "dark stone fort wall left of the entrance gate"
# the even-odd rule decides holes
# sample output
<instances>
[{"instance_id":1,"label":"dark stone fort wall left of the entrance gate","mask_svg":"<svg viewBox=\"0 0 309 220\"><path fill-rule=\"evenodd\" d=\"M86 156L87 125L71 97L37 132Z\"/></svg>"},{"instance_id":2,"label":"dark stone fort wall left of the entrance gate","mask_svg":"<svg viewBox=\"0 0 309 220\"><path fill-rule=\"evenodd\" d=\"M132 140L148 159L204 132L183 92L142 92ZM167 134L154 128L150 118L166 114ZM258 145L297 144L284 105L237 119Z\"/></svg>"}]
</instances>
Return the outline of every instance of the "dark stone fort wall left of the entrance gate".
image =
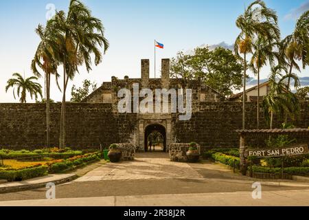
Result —
<instances>
[{"instance_id":1,"label":"dark stone fort wall left of the entrance gate","mask_svg":"<svg viewBox=\"0 0 309 220\"><path fill-rule=\"evenodd\" d=\"M50 142L58 146L61 104L51 104ZM46 140L45 104L0 104L0 147L42 148ZM66 140L72 148L108 147L127 142L135 114L112 113L111 104L67 103Z\"/></svg>"}]
</instances>

